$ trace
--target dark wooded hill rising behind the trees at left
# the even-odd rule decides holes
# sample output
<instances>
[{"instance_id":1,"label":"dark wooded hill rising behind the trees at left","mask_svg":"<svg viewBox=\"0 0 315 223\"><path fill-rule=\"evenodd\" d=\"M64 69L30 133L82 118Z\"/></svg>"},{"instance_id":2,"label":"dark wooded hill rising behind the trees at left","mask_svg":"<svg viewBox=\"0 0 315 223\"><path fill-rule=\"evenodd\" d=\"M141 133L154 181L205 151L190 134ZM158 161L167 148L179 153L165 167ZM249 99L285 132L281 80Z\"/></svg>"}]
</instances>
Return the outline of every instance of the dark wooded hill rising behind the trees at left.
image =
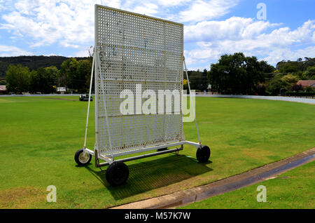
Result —
<instances>
[{"instance_id":1,"label":"dark wooded hill rising behind the trees at left","mask_svg":"<svg viewBox=\"0 0 315 223\"><path fill-rule=\"evenodd\" d=\"M22 65L29 67L30 70L40 67L55 66L60 69L64 60L69 59L62 56L18 56L18 57L0 57L0 77L6 76L6 69L9 65ZM87 58L76 58L76 60L85 60Z\"/></svg>"}]
</instances>

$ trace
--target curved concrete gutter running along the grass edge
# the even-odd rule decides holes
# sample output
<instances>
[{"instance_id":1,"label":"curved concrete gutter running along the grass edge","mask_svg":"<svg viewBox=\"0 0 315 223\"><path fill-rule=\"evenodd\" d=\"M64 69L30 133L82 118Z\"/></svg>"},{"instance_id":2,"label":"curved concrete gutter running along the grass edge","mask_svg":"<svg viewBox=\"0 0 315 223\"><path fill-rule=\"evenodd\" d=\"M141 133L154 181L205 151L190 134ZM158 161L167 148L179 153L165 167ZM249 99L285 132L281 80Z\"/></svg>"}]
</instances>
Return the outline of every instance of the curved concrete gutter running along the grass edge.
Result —
<instances>
[{"instance_id":1,"label":"curved concrete gutter running along the grass edge","mask_svg":"<svg viewBox=\"0 0 315 223\"><path fill-rule=\"evenodd\" d=\"M295 156L285 158L275 163L264 165L260 168L249 170L245 173L235 175L232 177L218 180L210 184L206 184L200 187L194 187L192 189L186 189L184 191L178 191L172 194L159 196L156 198L149 198L144 201L137 201L134 203L127 203L113 207L113 209L159 209L159 208L176 208L196 201L202 201L216 196L224 194L229 191L235 191L242 187L247 187L252 184L262 182L280 175L288 170L297 168L300 165L315 161L315 147L309 149Z\"/></svg>"}]
</instances>

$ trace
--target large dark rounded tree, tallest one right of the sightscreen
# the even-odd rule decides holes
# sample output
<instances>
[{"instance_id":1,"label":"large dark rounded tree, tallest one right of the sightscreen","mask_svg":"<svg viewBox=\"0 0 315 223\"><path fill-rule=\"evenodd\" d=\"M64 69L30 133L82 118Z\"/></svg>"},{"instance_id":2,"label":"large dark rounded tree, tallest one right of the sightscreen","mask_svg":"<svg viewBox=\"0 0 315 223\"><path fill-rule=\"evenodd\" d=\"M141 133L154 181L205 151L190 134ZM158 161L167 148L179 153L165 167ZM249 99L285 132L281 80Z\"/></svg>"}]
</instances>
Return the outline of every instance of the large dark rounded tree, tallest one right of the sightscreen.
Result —
<instances>
[{"instance_id":1,"label":"large dark rounded tree, tallest one right of the sightscreen","mask_svg":"<svg viewBox=\"0 0 315 223\"><path fill-rule=\"evenodd\" d=\"M260 62L243 53L222 55L218 63L211 65L211 86L220 93L252 94L258 83L265 81Z\"/></svg>"}]
</instances>

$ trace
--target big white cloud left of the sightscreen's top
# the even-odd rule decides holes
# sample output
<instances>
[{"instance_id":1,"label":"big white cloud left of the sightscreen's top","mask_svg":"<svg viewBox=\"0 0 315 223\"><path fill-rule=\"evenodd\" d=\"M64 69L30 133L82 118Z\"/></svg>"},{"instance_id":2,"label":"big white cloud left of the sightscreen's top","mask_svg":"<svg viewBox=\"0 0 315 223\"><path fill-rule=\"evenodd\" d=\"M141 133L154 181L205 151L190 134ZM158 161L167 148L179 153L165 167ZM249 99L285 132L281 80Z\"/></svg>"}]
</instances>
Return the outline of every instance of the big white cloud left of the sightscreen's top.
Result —
<instances>
[{"instance_id":1,"label":"big white cloud left of the sightscreen's top","mask_svg":"<svg viewBox=\"0 0 315 223\"><path fill-rule=\"evenodd\" d=\"M118 6L117 1L102 1ZM64 47L77 47L94 36L94 3L99 1L19 0L15 9L2 15L1 29L14 35L31 37L32 47L59 42Z\"/></svg>"}]
</instances>

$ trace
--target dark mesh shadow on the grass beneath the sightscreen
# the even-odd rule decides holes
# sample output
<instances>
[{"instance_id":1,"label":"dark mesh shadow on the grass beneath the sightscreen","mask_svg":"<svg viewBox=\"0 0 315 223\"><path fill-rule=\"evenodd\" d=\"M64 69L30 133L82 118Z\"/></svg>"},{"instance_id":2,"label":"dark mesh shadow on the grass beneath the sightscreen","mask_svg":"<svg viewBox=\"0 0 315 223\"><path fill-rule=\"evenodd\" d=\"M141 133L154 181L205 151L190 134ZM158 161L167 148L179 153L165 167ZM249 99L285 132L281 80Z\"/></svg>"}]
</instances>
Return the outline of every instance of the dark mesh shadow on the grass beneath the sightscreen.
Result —
<instances>
[{"instance_id":1,"label":"dark mesh shadow on the grass beneath the sightscreen","mask_svg":"<svg viewBox=\"0 0 315 223\"><path fill-rule=\"evenodd\" d=\"M89 166L85 168L104 184L113 198L119 200L207 173L212 170L206 165L209 163L211 161L198 163L194 158L184 155L168 156L132 165L126 163L130 170L129 179L126 184L119 187L111 187L106 182L106 171L95 171Z\"/></svg>"}]
</instances>

